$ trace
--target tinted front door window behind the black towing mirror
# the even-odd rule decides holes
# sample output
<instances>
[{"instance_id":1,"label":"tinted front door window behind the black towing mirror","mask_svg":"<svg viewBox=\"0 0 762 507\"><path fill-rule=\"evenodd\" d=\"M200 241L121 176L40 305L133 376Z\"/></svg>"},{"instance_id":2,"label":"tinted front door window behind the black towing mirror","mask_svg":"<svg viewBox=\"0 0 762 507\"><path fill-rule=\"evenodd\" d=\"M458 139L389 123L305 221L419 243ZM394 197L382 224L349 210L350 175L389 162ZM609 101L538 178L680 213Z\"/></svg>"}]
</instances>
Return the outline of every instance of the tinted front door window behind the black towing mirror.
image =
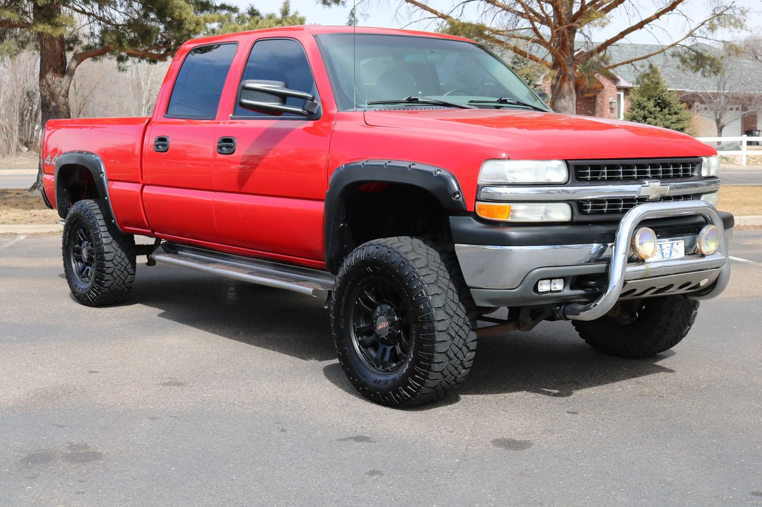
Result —
<instances>
[{"instance_id":1,"label":"tinted front door window behind the black towing mirror","mask_svg":"<svg viewBox=\"0 0 762 507\"><path fill-rule=\"evenodd\" d=\"M297 91L306 91L308 94L318 95L315 88L315 78L312 77L312 69L309 68L307 56L304 54L302 45L292 39L267 39L260 40L251 48L251 53L243 71L242 81L247 79L265 79L267 81L282 81L286 88ZM288 97L287 106L303 107L304 100ZM267 116L262 113L250 111L235 104L235 116ZM302 116L283 113L282 116Z\"/></svg>"}]
</instances>

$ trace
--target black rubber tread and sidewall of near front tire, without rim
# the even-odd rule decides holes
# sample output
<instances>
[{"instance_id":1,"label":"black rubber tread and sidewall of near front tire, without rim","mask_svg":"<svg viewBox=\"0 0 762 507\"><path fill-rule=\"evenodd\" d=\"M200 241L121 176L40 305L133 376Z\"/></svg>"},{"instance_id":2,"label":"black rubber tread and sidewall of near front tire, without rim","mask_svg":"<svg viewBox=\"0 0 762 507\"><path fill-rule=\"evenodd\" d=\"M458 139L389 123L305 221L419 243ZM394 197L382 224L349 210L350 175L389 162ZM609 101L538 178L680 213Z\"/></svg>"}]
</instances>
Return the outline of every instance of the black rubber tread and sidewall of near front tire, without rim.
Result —
<instances>
[{"instance_id":1,"label":"black rubber tread and sidewall of near front tire, without rim","mask_svg":"<svg viewBox=\"0 0 762 507\"><path fill-rule=\"evenodd\" d=\"M354 301L367 279L395 284L401 301L410 308L411 347L399 369L390 373L376 371L362 359L350 330ZM396 407L430 403L469 374L476 351L475 307L456 257L447 247L408 237L357 247L336 276L330 313L338 360L347 378L376 403Z\"/></svg>"}]
</instances>

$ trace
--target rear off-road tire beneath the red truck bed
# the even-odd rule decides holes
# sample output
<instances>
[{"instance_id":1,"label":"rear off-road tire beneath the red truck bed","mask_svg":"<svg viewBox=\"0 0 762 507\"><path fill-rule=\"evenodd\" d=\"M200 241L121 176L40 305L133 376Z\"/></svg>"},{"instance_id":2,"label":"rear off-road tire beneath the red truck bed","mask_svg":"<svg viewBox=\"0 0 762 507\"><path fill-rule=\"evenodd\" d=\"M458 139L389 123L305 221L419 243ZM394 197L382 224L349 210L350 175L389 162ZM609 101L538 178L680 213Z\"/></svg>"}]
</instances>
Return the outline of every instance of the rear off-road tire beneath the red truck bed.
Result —
<instances>
[{"instance_id":1,"label":"rear off-road tire beneath the red truck bed","mask_svg":"<svg viewBox=\"0 0 762 507\"><path fill-rule=\"evenodd\" d=\"M135 239L122 234L104 217L99 201L77 201L69 209L63 226L62 256L66 281L82 305L111 305L130 293L135 279ZM78 231L88 238L90 273L83 279L73 260ZM82 248L79 249L82 251ZM80 258L82 254L80 253Z\"/></svg>"}]
</instances>

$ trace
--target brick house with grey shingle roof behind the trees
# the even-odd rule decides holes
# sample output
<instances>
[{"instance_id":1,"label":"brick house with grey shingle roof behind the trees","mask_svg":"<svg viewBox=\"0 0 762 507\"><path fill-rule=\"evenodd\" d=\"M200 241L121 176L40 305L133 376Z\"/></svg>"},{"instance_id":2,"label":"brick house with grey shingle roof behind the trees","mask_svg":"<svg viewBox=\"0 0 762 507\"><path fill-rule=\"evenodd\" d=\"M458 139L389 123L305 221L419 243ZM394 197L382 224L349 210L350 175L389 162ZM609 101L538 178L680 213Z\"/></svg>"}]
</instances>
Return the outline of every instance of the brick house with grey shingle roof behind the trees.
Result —
<instances>
[{"instance_id":1,"label":"brick house with grey shingle roof behind the trees","mask_svg":"<svg viewBox=\"0 0 762 507\"><path fill-rule=\"evenodd\" d=\"M611 62L624 62L641 55L653 53L661 46L653 44L614 44L608 50L607 56ZM705 46L702 49L707 49ZM709 48L713 49L713 48ZM584 50L584 49L582 49ZM713 49L716 50L716 49ZM706 104L700 101L700 94L706 96L707 91L716 88L715 80L700 74L680 68L675 56L676 49L652 56L628 65L622 65L611 71L595 75L590 80L581 79L577 83L577 113L601 118L623 119L629 107L629 93L641 72L653 63L664 75L668 87L677 91L680 101L687 105L694 115L693 134L696 136L716 136L717 130ZM741 136L746 130L757 129L757 108L762 94L762 63L752 59L739 59L741 65L737 89L733 93L735 103L727 105L729 116L738 116L735 121L726 126L722 136ZM740 81L743 81L742 83ZM721 93L721 92L713 92ZM752 100L754 99L754 100ZM745 104L755 102L750 110ZM742 116L741 116L742 115Z\"/></svg>"}]
</instances>

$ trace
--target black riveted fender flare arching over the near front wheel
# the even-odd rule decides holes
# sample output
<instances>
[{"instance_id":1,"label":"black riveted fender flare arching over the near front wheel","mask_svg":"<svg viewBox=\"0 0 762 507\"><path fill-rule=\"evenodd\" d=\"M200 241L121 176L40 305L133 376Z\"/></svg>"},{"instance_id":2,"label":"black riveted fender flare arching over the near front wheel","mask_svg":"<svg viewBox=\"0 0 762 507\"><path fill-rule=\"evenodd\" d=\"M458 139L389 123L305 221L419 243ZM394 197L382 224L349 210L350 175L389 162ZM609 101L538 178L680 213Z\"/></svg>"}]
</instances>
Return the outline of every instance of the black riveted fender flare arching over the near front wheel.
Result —
<instances>
[{"instance_id":1,"label":"black riveted fender flare arching over the near front wheel","mask_svg":"<svg viewBox=\"0 0 762 507\"><path fill-rule=\"evenodd\" d=\"M365 160L344 164L331 174L328 192L325 193L325 265L331 273L338 273L343 261L338 257L346 213L344 193L360 183L403 183L427 190L443 209L467 209L458 179L441 167L399 160Z\"/></svg>"}]
</instances>

